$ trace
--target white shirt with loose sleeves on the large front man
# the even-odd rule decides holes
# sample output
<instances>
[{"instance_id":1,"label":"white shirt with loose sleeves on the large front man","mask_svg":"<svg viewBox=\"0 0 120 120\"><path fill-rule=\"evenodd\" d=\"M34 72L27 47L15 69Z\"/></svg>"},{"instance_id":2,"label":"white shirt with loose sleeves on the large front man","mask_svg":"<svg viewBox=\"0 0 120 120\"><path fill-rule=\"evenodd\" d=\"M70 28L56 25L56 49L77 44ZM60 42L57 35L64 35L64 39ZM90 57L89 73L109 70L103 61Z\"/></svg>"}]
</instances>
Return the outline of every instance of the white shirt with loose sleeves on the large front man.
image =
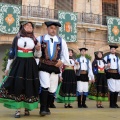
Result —
<instances>
[{"instance_id":1,"label":"white shirt with loose sleeves on the large front man","mask_svg":"<svg viewBox=\"0 0 120 120\"><path fill-rule=\"evenodd\" d=\"M39 36L39 37L37 38L37 40L38 40L39 43L42 42L41 37L42 37L42 36ZM53 42L51 41L50 38L53 39ZM48 43L49 43L49 44L48 44L48 45L49 45L48 49L49 49L49 51L50 51L50 55L52 56L52 55L53 55L53 52L54 52L54 44L55 44L55 42L58 42L59 39L58 39L58 37L57 37L56 35L55 35L55 36L50 36L49 34L46 34L46 35L44 36L44 40L45 40L45 41L48 41ZM67 47L67 44L66 44L66 42L65 42L64 39L62 39L62 46L61 46L61 48L62 48L62 49L61 49L61 54L60 54L60 60L62 61L63 64L70 64L70 63L69 63L68 47Z\"/></svg>"}]
</instances>

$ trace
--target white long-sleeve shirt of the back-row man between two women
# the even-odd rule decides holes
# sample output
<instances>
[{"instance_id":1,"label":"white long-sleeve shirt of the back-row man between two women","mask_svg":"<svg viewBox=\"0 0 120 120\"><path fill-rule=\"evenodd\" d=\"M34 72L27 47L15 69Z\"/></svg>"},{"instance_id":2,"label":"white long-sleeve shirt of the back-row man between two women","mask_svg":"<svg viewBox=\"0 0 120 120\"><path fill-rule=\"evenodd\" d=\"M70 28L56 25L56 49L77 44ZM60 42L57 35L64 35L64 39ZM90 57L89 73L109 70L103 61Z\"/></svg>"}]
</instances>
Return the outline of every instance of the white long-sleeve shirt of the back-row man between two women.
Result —
<instances>
[{"instance_id":1,"label":"white long-sleeve shirt of the back-row man between two women","mask_svg":"<svg viewBox=\"0 0 120 120\"><path fill-rule=\"evenodd\" d=\"M89 60L89 63L87 63L87 59L85 58L85 56L81 56L79 58L79 61L81 64L79 64L79 67L77 69L80 68L81 70L87 70L89 80L94 80L94 74L92 71L92 64L91 64L90 60ZM78 62L78 61L76 60L76 62Z\"/></svg>"}]
</instances>

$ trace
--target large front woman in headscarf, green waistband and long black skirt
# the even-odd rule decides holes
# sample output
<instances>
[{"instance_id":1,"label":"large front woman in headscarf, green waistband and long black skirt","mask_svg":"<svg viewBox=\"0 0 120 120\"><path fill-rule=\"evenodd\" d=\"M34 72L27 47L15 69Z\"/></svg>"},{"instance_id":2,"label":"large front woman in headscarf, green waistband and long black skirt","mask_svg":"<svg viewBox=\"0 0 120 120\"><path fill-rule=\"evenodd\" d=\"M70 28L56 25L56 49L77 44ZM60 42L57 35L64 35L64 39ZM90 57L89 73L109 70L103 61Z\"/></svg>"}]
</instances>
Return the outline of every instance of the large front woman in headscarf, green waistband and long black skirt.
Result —
<instances>
[{"instance_id":1,"label":"large front woman in headscarf, green waistband and long black skirt","mask_svg":"<svg viewBox=\"0 0 120 120\"><path fill-rule=\"evenodd\" d=\"M40 56L40 45L33 30L32 22L21 24L9 52L7 76L0 86L0 102L7 108L16 109L15 118L20 118L21 108L25 108L24 115L28 116L30 110L38 107L39 78L34 54Z\"/></svg>"}]
</instances>

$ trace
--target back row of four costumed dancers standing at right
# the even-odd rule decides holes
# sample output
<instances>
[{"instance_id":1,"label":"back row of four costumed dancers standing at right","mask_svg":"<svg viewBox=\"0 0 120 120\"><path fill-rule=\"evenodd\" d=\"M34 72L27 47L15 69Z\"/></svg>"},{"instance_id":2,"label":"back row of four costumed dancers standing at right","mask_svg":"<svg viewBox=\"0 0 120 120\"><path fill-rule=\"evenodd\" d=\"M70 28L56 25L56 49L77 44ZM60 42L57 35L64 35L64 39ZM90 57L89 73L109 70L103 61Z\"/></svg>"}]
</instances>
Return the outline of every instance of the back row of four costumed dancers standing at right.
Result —
<instances>
[{"instance_id":1,"label":"back row of four costumed dancers standing at right","mask_svg":"<svg viewBox=\"0 0 120 120\"><path fill-rule=\"evenodd\" d=\"M87 48L79 49L81 56L77 59L71 54L73 50L69 51L69 60L73 62L69 66L63 66L63 80L57 89L57 102L65 103L65 108L72 108L70 103L77 100L78 108L88 108L88 97L96 100L97 108L104 108L102 101L108 100L110 108L119 108L117 98L120 91L120 60L116 55L118 46L109 46L110 54L103 57L102 51L96 51L92 63L85 57Z\"/></svg>"}]
</instances>

